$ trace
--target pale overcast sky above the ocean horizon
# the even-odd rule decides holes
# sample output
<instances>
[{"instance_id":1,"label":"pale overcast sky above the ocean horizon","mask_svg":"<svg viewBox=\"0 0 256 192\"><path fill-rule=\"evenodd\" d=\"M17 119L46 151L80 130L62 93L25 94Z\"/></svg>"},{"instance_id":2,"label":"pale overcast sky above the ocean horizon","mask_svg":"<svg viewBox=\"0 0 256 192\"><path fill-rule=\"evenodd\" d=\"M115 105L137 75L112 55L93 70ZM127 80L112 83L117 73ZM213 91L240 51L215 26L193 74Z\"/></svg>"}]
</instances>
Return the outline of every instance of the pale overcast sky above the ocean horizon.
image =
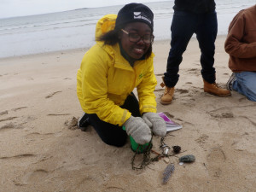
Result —
<instances>
[{"instance_id":1,"label":"pale overcast sky above the ocean horizon","mask_svg":"<svg viewBox=\"0 0 256 192\"><path fill-rule=\"evenodd\" d=\"M0 18L38 15L59 11L96 8L125 3L160 2L165 0L0 0Z\"/></svg>"}]
</instances>

